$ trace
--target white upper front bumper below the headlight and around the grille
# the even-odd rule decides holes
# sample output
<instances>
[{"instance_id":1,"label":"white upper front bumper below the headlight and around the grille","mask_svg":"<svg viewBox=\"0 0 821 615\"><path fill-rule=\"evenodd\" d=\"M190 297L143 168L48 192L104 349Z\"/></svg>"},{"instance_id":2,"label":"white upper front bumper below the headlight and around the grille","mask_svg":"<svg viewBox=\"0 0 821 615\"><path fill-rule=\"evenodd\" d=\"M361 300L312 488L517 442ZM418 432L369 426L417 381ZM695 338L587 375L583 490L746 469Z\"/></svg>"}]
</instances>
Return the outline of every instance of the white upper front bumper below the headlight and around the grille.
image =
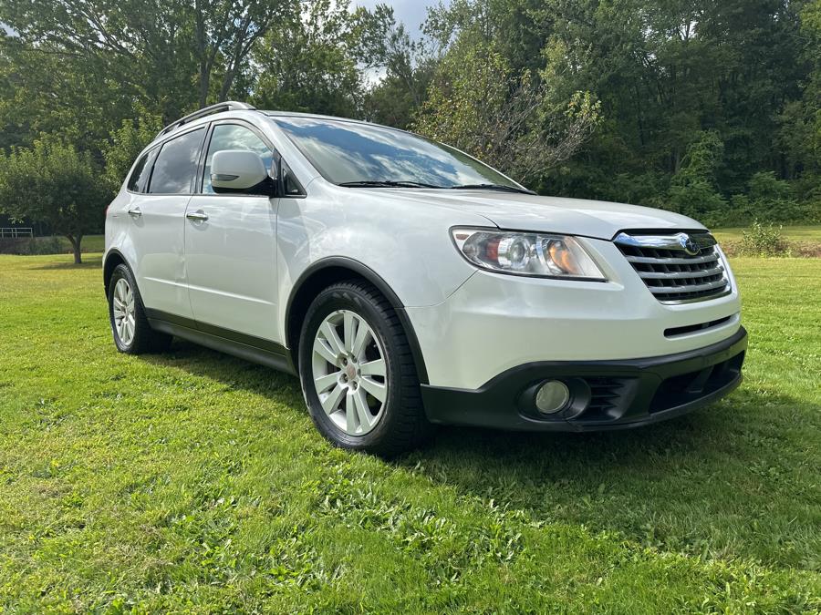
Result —
<instances>
[{"instance_id":1,"label":"white upper front bumper below the headlight and around the grille","mask_svg":"<svg viewBox=\"0 0 821 615\"><path fill-rule=\"evenodd\" d=\"M577 239L608 282L478 270L441 303L412 307L405 302L428 384L478 389L522 364L686 353L722 342L741 326L741 302L726 262L730 294L665 304L612 241Z\"/></svg>"}]
</instances>

